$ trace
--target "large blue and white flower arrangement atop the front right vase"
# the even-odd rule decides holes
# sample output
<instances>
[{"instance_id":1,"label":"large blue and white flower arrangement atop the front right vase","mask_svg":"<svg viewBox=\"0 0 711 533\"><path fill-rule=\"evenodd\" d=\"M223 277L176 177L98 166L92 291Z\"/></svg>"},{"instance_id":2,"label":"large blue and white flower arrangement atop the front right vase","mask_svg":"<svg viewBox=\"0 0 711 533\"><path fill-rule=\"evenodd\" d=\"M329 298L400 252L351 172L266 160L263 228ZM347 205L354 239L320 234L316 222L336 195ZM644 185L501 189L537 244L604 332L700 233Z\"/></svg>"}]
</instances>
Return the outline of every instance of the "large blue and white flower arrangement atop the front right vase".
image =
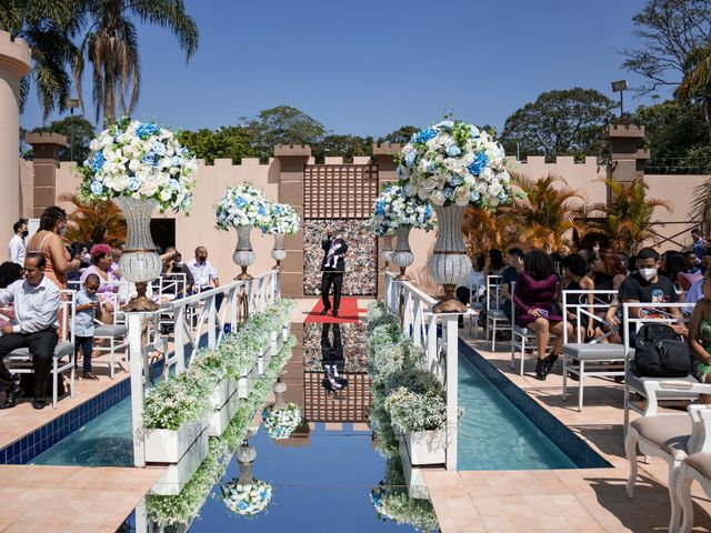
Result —
<instances>
[{"instance_id":1,"label":"large blue and white flower arrangement atop the front right vase","mask_svg":"<svg viewBox=\"0 0 711 533\"><path fill-rule=\"evenodd\" d=\"M493 209L511 199L503 148L475 125L444 120L412 135L398 155L408 197L435 205Z\"/></svg>"}]
</instances>

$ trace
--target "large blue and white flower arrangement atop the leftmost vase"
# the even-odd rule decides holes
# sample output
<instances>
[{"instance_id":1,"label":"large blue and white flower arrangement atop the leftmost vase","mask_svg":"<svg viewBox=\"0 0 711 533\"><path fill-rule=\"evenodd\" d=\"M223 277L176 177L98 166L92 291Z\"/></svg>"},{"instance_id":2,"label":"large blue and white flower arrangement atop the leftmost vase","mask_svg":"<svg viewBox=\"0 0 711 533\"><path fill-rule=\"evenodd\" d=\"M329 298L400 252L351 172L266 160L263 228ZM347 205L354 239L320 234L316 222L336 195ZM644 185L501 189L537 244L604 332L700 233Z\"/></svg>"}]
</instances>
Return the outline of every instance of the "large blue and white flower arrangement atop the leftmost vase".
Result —
<instances>
[{"instance_id":1,"label":"large blue and white flower arrangement atop the leftmost vase","mask_svg":"<svg viewBox=\"0 0 711 533\"><path fill-rule=\"evenodd\" d=\"M99 133L89 150L78 168L83 201L132 197L157 200L161 212L190 209L198 161L171 131L123 118Z\"/></svg>"}]
</instances>

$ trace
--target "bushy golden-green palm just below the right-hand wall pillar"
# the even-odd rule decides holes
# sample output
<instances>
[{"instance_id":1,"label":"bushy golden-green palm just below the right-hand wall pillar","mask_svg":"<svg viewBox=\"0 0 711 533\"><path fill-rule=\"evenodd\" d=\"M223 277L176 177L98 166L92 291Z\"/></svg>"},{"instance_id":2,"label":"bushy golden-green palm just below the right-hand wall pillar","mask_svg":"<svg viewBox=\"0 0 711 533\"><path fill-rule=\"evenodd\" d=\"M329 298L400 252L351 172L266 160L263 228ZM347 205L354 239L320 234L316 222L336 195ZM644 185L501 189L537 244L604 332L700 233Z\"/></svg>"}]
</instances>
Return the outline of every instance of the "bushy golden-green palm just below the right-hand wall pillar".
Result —
<instances>
[{"instance_id":1,"label":"bushy golden-green palm just below the right-hand wall pillar","mask_svg":"<svg viewBox=\"0 0 711 533\"><path fill-rule=\"evenodd\" d=\"M644 241L657 242L652 214L657 208L671 212L671 204L658 198L647 198L649 185L641 178L629 183L612 178L599 181L608 185L609 201L590 207L589 212L600 215L589 218L588 227L607 235L613 249L628 254L637 252Z\"/></svg>"}]
</instances>

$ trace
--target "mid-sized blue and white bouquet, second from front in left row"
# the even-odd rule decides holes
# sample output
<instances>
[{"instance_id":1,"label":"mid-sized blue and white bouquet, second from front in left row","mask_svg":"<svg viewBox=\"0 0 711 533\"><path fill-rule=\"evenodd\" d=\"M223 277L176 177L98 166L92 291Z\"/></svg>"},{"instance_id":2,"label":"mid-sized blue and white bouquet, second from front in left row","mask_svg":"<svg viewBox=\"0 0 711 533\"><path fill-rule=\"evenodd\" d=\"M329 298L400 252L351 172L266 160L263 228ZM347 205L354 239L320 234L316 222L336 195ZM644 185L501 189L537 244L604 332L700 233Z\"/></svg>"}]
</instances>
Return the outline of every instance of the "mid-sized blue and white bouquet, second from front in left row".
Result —
<instances>
[{"instance_id":1,"label":"mid-sized blue and white bouquet, second from front in left row","mask_svg":"<svg viewBox=\"0 0 711 533\"><path fill-rule=\"evenodd\" d=\"M270 204L264 193L251 183L230 187L214 208L219 230L243 227L267 227Z\"/></svg>"}]
</instances>

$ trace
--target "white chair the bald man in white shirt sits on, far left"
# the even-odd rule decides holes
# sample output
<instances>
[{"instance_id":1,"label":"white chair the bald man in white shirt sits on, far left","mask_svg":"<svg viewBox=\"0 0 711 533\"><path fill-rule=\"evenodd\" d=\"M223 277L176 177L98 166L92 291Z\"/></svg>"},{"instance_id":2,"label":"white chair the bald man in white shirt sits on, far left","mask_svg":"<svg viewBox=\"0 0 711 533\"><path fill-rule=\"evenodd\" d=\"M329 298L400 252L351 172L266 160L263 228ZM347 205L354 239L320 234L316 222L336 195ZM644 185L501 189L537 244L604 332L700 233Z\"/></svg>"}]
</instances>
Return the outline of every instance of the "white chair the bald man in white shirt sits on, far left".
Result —
<instances>
[{"instance_id":1,"label":"white chair the bald man in white shirt sits on, far left","mask_svg":"<svg viewBox=\"0 0 711 533\"><path fill-rule=\"evenodd\" d=\"M59 375L62 372L70 371L69 391L71 398L74 398L74 315L77 312L77 300L74 291L60 291L61 302L59 306L59 318L61 320L62 336L57 343L54 354L52 356L52 368L50 374L52 376L52 408L57 409ZM67 362L62 360L68 358ZM10 363L12 372L17 374L33 374L32 354L28 348L13 350L7 356L6 361ZM20 366L16 366L16 363Z\"/></svg>"}]
</instances>

